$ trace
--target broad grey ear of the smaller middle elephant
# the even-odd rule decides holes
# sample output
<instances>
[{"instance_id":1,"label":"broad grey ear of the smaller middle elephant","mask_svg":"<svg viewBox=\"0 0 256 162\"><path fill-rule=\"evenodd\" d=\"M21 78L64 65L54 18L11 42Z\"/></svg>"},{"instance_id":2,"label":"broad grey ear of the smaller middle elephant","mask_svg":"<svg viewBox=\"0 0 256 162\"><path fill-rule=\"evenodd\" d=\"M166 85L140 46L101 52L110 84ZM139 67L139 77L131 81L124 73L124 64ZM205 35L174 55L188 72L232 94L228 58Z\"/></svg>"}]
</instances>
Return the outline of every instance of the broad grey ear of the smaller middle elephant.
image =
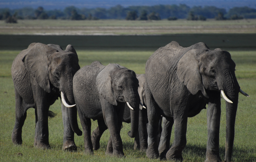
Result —
<instances>
[{"instance_id":1,"label":"broad grey ear of the smaller middle elephant","mask_svg":"<svg viewBox=\"0 0 256 162\"><path fill-rule=\"evenodd\" d=\"M117 106L116 98L112 89L111 73L117 69L115 64L108 64L97 75L96 86L98 93L110 104Z\"/></svg>"}]
</instances>

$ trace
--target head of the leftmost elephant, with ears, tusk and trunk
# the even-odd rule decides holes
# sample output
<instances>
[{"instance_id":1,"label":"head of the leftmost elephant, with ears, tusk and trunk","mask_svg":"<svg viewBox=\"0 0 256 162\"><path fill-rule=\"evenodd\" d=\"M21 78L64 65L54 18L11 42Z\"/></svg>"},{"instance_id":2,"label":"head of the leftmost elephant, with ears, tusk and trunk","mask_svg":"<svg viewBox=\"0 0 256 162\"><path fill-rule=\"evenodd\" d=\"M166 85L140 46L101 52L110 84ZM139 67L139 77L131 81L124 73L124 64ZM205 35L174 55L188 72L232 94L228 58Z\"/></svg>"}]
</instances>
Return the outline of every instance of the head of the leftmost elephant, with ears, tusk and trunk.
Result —
<instances>
[{"instance_id":1,"label":"head of the leftmost elephant, with ears, tusk and trunk","mask_svg":"<svg viewBox=\"0 0 256 162\"><path fill-rule=\"evenodd\" d=\"M73 95L73 76L80 69L78 56L72 45L64 51L59 45L32 43L22 61L39 86L47 93L61 92L62 102L69 109L73 131L81 136L76 118ZM69 104L69 105L68 105ZM71 106L70 106L71 105Z\"/></svg>"}]
</instances>

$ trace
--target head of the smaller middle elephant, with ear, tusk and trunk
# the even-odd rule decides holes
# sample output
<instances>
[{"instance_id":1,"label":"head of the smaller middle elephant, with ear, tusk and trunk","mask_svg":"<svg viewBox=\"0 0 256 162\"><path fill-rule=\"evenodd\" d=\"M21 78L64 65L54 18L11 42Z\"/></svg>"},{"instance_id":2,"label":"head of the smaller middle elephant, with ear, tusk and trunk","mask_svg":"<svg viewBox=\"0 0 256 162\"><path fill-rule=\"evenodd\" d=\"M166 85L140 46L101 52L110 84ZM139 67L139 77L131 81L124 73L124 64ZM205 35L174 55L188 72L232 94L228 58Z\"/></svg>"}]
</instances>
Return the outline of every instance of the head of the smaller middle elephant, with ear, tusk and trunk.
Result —
<instances>
[{"instance_id":1,"label":"head of the smaller middle elephant, with ear, tusk and trunk","mask_svg":"<svg viewBox=\"0 0 256 162\"><path fill-rule=\"evenodd\" d=\"M139 126L139 81L134 71L119 64L108 64L96 78L98 93L110 104L126 102L131 111L130 137L135 137Z\"/></svg>"}]
</instances>

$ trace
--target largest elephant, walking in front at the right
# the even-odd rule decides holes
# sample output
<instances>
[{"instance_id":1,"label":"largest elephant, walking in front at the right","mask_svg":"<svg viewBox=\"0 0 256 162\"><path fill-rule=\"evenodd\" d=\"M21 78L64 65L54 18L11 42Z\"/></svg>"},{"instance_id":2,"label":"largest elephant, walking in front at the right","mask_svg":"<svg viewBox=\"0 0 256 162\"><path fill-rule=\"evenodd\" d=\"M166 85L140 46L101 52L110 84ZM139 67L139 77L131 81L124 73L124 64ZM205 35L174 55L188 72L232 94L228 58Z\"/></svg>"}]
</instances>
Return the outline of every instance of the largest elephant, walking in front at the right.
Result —
<instances>
[{"instance_id":1,"label":"largest elephant, walking in front at the right","mask_svg":"<svg viewBox=\"0 0 256 162\"><path fill-rule=\"evenodd\" d=\"M233 102L226 102L225 161L231 161L240 87L235 77L235 63L229 52L221 49L210 50L204 43L184 48L173 41L150 56L145 72L149 120L147 157L158 158L160 153L168 160L183 160L182 150L186 145L187 118L194 117L208 104L208 142L205 161L220 162L220 90L223 90ZM163 132L169 132L161 137L158 151L158 145L154 142L157 138L155 130L160 115L165 117ZM169 144L165 141L170 138L173 124L175 137L169 149Z\"/></svg>"}]
</instances>

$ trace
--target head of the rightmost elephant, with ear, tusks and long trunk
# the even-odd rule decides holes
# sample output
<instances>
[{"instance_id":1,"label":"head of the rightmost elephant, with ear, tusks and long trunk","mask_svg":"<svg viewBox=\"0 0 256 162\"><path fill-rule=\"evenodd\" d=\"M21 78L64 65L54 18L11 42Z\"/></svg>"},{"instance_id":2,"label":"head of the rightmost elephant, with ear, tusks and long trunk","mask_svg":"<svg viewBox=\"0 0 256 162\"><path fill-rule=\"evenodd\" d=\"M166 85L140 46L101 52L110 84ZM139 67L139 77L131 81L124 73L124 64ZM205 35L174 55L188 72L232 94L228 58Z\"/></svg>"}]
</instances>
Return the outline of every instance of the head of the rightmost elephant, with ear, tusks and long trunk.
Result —
<instances>
[{"instance_id":1,"label":"head of the rightmost elephant, with ear, tusks and long trunk","mask_svg":"<svg viewBox=\"0 0 256 162\"><path fill-rule=\"evenodd\" d=\"M235 63L229 52L221 49L209 50L204 43L198 43L199 49L187 51L177 64L180 82L195 95L202 94L209 98L211 91L221 92L226 100L226 155L231 161L234 143L234 127L238 106L239 91L244 95L235 76ZM249 97L249 95L248 95Z\"/></svg>"}]
</instances>

